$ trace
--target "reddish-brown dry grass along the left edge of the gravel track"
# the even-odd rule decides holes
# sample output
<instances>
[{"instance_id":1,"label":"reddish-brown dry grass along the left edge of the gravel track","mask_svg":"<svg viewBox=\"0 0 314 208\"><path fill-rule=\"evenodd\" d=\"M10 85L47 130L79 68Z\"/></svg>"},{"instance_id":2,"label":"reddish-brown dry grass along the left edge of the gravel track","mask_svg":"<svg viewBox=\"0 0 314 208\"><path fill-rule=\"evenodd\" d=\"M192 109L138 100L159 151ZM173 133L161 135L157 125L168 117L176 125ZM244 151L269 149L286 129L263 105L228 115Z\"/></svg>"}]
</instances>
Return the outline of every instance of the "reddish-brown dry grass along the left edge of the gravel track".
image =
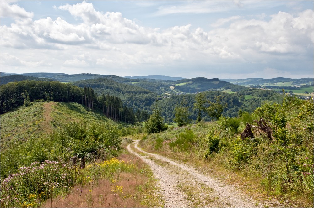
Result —
<instances>
[{"instance_id":1,"label":"reddish-brown dry grass along the left edge of the gravel track","mask_svg":"<svg viewBox=\"0 0 314 208\"><path fill-rule=\"evenodd\" d=\"M156 194L150 168L133 155L118 157L137 167L133 172L121 172L119 179L100 179L83 186L77 185L70 194L46 201L44 207L158 207L160 196ZM145 171L141 171L145 169Z\"/></svg>"}]
</instances>

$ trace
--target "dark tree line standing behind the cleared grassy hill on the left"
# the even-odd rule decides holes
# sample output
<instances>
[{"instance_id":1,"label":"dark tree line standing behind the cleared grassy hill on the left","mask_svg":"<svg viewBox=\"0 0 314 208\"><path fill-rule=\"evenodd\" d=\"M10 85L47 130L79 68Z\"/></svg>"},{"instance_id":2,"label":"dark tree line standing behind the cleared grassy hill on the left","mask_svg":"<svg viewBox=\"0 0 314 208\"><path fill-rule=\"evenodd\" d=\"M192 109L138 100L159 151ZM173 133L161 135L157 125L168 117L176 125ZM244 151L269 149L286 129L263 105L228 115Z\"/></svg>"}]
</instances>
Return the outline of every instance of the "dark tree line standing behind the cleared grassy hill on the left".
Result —
<instances>
[{"instance_id":1,"label":"dark tree line standing behind the cleared grassy hill on the left","mask_svg":"<svg viewBox=\"0 0 314 208\"><path fill-rule=\"evenodd\" d=\"M77 102L91 111L95 108L102 109L103 114L115 121L134 124L142 120L141 117L136 117L132 107L123 105L119 97L109 94L98 96L91 87L81 88L59 81L33 80L10 82L1 86L1 114L22 105L27 107L36 100ZM141 114L145 113L140 112Z\"/></svg>"}]
</instances>

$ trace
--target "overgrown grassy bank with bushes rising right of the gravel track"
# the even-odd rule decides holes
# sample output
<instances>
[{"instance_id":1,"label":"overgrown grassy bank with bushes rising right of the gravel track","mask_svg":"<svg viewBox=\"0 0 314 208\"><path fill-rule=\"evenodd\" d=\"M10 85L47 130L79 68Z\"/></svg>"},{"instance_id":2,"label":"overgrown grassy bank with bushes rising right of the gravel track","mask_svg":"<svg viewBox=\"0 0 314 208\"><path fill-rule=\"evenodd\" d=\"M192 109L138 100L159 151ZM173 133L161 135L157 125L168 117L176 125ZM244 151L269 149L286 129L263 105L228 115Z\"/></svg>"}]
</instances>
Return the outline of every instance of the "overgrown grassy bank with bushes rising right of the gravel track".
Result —
<instances>
[{"instance_id":1,"label":"overgrown grassy bank with bushes rising right of the gravel track","mask_svg":"<svg viewBox=\"0 0 314 208\"><path fill-rule=\"evenodd\" d=\"M259 117L272 127L273 140L258 131L254 138L241 139L246 122ZM140 145L232 183L257 200L313 206L312 100L289 98L239 118L145 135Z\"/></svg>"}]
</instances>

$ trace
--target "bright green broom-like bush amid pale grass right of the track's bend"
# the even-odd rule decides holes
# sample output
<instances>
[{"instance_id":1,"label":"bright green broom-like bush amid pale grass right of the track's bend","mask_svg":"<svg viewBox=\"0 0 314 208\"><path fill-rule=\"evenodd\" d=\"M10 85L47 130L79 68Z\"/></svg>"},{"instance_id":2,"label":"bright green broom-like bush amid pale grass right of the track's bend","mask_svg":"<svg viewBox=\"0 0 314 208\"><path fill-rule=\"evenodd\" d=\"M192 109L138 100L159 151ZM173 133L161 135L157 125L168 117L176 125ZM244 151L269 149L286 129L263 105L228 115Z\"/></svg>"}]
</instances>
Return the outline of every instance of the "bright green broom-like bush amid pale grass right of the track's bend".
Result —
<instances>
[{"instance_id":1,"label":"bright green broom-like bush amid pale grass right of the track's bend","mask_svg":"<svg viewBox=\"0 0 314 208\"><path fill-rule=\"evenodd\" d=\"M192 129L186 129L185 132L176 135L176 140L169 143L171 149L176 148L179 152L187 151L195 142L195 135Z\"/></svg>"}]
</instances>

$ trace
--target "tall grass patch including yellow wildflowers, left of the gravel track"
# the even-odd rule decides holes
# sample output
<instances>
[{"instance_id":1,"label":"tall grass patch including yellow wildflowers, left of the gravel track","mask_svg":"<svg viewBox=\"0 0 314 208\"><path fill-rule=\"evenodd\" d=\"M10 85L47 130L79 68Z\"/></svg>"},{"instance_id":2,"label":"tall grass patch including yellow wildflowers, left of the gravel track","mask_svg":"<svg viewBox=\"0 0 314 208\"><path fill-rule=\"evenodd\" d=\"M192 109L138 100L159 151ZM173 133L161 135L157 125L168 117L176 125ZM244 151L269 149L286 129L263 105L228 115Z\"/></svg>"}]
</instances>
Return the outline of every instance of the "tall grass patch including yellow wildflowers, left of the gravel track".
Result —
<instances>
[{"instance_id":1,"label":"tall grass patch including yellow wildflowers, left of the gravel track","mask_svg":"<svg viewBox=\"0 0 314 208\"><path fill-rule=\"evenodd\" d=\"M122 160L123 159L123 160ZM90 163L83 180L71 193L47 201L44 207L156 207L162 201L155 193L149 167L131 155Z\"/></svg>"}]
</instances>

